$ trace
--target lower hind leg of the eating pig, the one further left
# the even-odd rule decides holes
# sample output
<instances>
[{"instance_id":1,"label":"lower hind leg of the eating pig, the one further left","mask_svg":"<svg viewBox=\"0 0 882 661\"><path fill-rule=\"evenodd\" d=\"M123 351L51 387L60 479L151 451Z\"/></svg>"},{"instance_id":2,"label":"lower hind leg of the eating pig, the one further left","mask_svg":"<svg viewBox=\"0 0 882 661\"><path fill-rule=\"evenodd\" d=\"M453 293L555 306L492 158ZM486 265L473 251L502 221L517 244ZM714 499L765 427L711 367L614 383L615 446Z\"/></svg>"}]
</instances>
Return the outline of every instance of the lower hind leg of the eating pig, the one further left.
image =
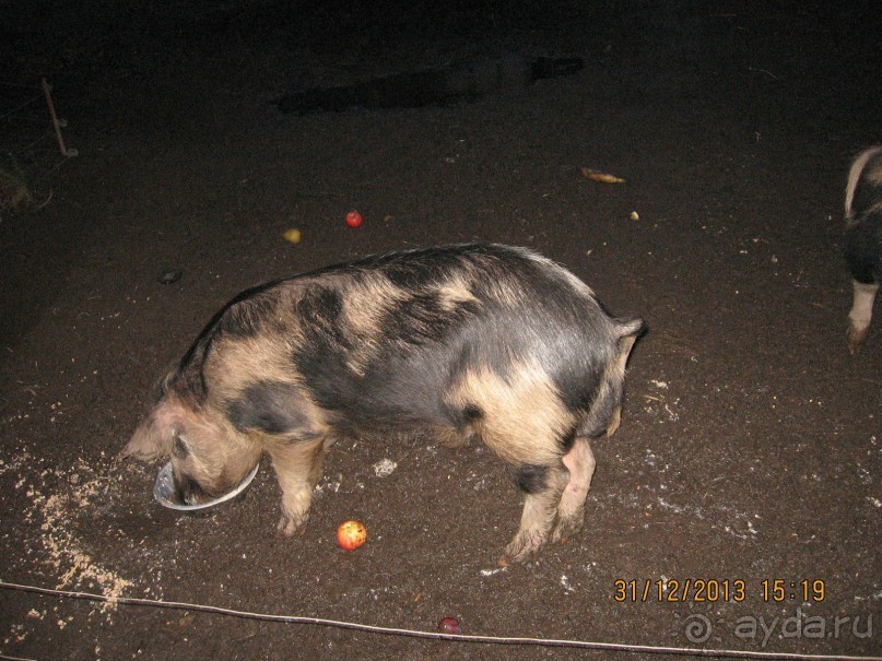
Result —
<instances>
[{"instance_id":1,"label":"lower hind leg of the eating pig, the one further left","mask_svg":"<svg viewBox=\"0 0 882 661\"><path fill-rule=\"evenodd\" d=\"M569 473L563 462L545 469L544 484L541 488L527 493L520 528L515 538L505 547L499 565L522 563L531 553L538 552L549 540L561 494L569 482Z\"/></svg>"}]
</instances>

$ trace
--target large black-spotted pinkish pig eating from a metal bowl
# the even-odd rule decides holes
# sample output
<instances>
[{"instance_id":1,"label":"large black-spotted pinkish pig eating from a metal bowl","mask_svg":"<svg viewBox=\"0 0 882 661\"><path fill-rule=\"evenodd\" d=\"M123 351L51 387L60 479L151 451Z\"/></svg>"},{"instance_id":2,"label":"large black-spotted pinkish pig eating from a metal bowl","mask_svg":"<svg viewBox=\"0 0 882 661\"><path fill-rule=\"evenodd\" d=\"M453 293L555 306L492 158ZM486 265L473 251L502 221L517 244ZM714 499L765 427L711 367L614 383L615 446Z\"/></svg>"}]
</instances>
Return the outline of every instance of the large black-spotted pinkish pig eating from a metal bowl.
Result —
<instances>
[{"instance_id":1,"label":"large black-spotted pinkish pig eating from a metal bowl","mask_svg":"<svg viewBox=\"0 0 882 661\"><path fill-rule=\"evenodd\" d=\"M291 535L337 438L477 438L526 493L501 560L521 562L581 528L589 439L619 426L643 329L525 248L460 245L327 267L221 309L120 455L170 455L178 496L192 504L230 491L266 452L282 489L278 532Z\"/></svg>"}]
</instances>

